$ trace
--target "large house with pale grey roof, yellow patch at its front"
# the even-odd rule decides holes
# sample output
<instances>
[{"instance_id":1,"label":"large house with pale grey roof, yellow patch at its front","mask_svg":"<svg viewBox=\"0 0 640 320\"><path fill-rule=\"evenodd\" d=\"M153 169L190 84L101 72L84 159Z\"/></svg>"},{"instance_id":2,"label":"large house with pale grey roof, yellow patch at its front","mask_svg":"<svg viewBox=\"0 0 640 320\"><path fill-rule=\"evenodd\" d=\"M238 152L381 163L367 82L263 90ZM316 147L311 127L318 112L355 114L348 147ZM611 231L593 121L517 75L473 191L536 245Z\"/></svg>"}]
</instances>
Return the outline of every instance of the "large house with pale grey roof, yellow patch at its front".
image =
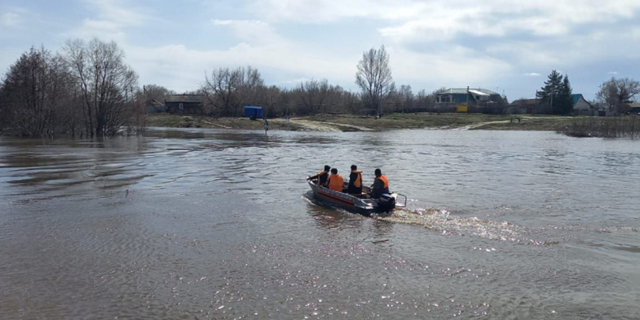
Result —
<instances>
[{"instance_id":1,"label":"large house with pale grey roof, yellow patch at its front","mask_svg":"<svg viewBox=\"0 0 640 320\"><path fill-rule=\"evenodd\" d=\"M439 112L503 113L506 101L496 92L486 89L450 88L436 93L435 110ZM466 108L465 108L466 107Z\"/></svg>"}]
</instances>

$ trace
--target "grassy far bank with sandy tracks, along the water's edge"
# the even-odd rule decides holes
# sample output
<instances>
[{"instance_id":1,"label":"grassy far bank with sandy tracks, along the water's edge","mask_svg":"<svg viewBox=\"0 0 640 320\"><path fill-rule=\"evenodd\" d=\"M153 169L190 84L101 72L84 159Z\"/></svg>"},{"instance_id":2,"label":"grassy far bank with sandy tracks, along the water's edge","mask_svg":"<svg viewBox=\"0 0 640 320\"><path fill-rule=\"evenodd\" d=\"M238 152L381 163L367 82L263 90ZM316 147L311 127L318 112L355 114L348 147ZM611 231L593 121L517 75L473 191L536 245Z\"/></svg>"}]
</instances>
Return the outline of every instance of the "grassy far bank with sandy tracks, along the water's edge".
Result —
<instances>
[{"instance_id":1,"label":"grassy far bank with sandy tracks, along the water's edge","mask_svg":"<svg viewBox=\"0 0 640 320\"><path fill-rule=\"evenodd\" d=\"M317 114L293 117L289 125L282 118L269 119L271 130L293 131L381 131L390 129L492 129L558 131L573 121L571 117L515 116L504 114L385 114L380 119L351 114ZM198 117L177 114L149 114L148 127L264 129L262 121L247 118Z\"/></svg>"}]
</instances>

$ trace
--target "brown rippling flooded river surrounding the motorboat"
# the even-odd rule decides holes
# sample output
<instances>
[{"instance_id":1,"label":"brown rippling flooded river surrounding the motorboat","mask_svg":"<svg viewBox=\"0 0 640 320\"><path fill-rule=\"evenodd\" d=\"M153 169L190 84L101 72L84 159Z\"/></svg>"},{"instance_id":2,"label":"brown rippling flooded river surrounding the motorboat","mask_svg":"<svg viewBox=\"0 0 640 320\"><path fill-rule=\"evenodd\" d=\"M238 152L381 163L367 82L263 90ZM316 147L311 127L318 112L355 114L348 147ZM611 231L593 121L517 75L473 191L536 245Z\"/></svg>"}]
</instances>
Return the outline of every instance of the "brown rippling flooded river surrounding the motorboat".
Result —
<instances>
[{"instance_id":1,"label":"brown rippling flooded river surrounding the motorboat","mask_svg":"<svg viewBox=\"0 0 640 320\"><path fill-rule=\"evenodd\" d=\"M319 206L325 164L409 208ZM0 319L637 319L639 181L551 132L0 138Z\"/></svg>"}]
</instances>

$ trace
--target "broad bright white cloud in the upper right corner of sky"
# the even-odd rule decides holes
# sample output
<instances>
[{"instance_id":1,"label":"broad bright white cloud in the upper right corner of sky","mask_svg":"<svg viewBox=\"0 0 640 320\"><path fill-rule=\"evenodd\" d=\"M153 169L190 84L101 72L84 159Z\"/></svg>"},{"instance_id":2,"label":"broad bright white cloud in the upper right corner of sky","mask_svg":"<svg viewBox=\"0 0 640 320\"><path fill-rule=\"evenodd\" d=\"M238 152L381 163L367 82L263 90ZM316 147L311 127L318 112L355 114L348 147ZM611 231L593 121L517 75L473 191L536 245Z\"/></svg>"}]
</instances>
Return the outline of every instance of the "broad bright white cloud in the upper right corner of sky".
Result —
<instances>
[{"instance_id":1,"label":"broad bright white cloud in the upper right corner of sky","mask_svg":"<svg viewBox=\"0 0 640 320\"><path fill-rule=\"evenodd\" d=\"M601 1L431 1L416 18L380 28L386 37L404 41L442 41L469 35L505 37L566 36L588 23L631 19L640 1L609 4ZM626 5L626 6L625 6ZM624 6L625 9L621 9ZM380 17L383 18L383 17Z\"/></svg>"}]
</instances>

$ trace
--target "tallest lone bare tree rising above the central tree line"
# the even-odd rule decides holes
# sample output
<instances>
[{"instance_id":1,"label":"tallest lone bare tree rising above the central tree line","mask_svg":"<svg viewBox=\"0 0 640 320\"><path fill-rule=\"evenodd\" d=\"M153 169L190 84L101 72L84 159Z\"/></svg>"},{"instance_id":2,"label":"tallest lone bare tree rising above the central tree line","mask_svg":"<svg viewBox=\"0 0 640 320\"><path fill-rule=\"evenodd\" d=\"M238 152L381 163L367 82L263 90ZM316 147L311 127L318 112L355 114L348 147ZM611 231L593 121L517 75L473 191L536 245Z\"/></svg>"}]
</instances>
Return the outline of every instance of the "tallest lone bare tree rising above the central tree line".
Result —
<instances>
[{"instance_id":1,"label":"tallest lone bare tree rising above the central tree line","mask_svg":"<svg viewBox=\"0 0 640 320\"><path fill-rule=\"evenodd\" d=\"M389 55L385 46L380 46L378 50L371 48L362 54L356 73L356 85L362 90L363 100L380 113L382 99L393 87Z\"/></svg>"}]
</instances>

